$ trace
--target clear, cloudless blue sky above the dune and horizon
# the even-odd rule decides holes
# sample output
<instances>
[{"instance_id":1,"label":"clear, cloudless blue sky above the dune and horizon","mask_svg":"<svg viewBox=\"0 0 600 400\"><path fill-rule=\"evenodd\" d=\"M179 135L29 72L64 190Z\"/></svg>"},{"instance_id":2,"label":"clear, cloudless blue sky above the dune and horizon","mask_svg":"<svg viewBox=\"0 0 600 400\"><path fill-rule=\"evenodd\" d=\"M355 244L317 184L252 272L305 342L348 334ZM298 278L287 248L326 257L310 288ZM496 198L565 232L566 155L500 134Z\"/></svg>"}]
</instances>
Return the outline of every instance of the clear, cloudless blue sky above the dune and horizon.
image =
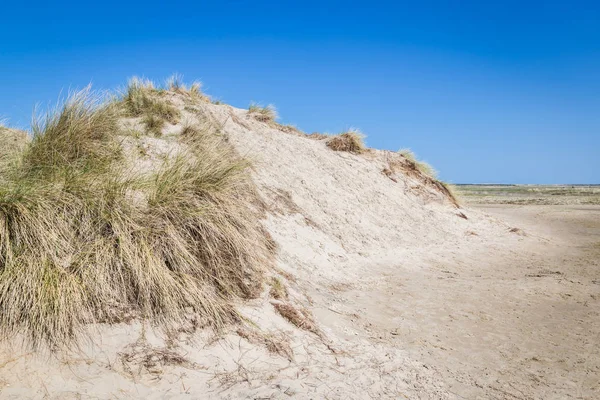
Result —
<instances>
[{"instance_id":1,"label":"clear, cloudless blue sky above the dune and horizon","mask_svg":"<svg viewBox=\"0 0 600 400\"><path fill-rule=\"evenodd\" d=\"M14 126L69 88L179 72L307 132L410 147L450 182L600 183L598 2L7 3Z\"/></svg>"}]
</instances>

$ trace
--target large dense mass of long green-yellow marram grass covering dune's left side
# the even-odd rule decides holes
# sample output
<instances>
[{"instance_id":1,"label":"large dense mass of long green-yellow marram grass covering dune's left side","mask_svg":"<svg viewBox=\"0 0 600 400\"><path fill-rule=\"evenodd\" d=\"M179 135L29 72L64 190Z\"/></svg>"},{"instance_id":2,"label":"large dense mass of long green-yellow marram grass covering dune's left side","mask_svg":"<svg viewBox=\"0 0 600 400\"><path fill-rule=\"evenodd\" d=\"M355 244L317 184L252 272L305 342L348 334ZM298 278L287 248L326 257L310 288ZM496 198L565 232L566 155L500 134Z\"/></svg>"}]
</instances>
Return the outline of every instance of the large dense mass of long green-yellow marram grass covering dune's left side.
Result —
<instances>
[{"instance_id":1,"label":"large dense mass of long green-yellow marram grass covering dune's left side","mask_svg":"<svg viewBox=\"0 0 600 400\"><path fill-rule=\"evenodd\" d=\"M132 175L121 105L73 95L3 171L1 337L65 345L114 310L165 328L194 313L218 328L236 318L232 298L260 292L272 254L247 163L206 134Z\"/></svg>"}]
</instances>

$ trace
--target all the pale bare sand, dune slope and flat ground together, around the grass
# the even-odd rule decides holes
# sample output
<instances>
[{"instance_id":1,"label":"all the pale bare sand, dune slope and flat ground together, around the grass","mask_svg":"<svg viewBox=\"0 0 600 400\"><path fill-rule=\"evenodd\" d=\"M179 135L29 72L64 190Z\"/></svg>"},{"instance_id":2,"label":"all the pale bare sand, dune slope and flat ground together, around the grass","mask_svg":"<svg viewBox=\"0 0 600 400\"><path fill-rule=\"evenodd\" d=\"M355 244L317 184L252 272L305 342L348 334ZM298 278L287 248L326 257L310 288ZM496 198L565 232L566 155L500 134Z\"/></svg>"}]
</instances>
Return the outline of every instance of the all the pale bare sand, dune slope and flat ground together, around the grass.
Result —
<instances>
[{"instance_id":1,"label":"all the pale bare sand, dune slope and flat ground together, around the grass","mask_svg":"<svg viewBox=\"0 0 600 400\"><path fill-rule=\"evenodd\" d=\"M0 347L1 398L600 396L600 213L582 212L591 239L577 246L573 214L467 208L464 219L418 177L384 175L389 153L333 152L244 110L198 107L254 161L275 275L321 333L284 320L265 291L240 307L279 355L235 327L170 343L137 322L98 326L70 354ZM154 149L168 152L178 129Z\"/></svg>"}]
</instances>

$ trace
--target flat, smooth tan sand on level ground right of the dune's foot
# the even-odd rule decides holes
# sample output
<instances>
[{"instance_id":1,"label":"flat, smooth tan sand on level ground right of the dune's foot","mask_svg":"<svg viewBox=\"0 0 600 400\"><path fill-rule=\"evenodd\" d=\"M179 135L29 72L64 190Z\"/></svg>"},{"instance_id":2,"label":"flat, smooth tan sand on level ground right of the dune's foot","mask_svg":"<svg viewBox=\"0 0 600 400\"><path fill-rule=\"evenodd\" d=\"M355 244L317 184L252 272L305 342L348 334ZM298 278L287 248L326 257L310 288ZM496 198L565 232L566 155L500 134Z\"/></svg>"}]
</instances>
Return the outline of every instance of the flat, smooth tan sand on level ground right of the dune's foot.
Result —
<instances>
[{"instance_id":1,"label":"flat, smooth tan sand on level ground right of the dune's foot","mask_svg":"<svg viewBox=\"0 0 600 400\"><path fill-rule=\"evenodd\" d=\"M379 266L383 279L335 307L361 310L346 322L422 360L458 398L600 398L600 207L482 210L542 239Z\"/></svg>"}]
</instances>

